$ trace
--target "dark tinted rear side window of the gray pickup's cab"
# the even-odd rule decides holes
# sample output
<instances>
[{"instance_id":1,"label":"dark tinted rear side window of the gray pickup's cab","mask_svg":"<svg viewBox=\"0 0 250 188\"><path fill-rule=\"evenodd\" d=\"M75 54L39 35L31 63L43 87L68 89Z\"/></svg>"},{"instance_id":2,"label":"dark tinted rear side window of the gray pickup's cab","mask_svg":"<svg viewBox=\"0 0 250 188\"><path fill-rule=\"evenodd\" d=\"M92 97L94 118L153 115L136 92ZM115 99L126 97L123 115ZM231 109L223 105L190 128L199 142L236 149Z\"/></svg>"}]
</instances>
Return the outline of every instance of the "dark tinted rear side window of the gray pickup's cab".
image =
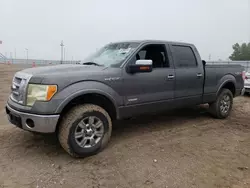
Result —
<instances>
[{"instance_id":1,"label":"dark tinted rear side window of the gray pickup's cab","mask_svg":"<svg viewBox=\"0 0 250 188\"><path fill-rule=\"evenodd\" d=\"M196 67L197 62L193 50L189 46L172 46L176 67Z\"/></svg>"}]
</instances>

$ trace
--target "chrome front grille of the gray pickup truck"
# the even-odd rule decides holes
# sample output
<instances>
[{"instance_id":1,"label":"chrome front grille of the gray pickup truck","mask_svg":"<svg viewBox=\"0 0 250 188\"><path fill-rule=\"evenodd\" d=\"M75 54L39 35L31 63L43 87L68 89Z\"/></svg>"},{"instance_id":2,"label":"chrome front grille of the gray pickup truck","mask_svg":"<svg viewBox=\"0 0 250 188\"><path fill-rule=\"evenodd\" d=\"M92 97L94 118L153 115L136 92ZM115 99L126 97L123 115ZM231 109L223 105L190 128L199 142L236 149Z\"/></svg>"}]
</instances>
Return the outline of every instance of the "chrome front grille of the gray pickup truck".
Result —
<instances>
[{"instance_id":1,"label":"chrome front grille of the gray pickup truck","mask_svg":"<svg viewBox=\"0 0 250 188\"><path fill-rule=\"evenodd\" d=\"M17 103L25 104L27 85L31 75L18 72L13 78L11 87L11 99Z\"/></svg>"}]
</instances>

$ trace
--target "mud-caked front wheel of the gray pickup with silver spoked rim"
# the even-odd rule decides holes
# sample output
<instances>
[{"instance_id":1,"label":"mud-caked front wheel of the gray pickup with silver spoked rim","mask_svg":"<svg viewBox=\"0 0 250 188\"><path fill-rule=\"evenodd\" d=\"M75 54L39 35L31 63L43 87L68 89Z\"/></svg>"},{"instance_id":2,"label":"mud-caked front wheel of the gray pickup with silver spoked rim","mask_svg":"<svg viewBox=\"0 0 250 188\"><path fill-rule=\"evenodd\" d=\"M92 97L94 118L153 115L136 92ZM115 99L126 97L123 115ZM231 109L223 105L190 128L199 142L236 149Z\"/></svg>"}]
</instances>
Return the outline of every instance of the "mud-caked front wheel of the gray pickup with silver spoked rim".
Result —
<instances>
[{"instance_id":1,"label":"mud-caked front wheel of the gray pickup with silver spoked rim","mask_svg":"<svg viewBox=\"0 0 250 188\"><path fill-rule=\"evenodd\" d=\"M87 157L99 153L107 146L111 132L109 114L100 106L84 104L72 108L63 117L58 139L72 157Z\"/></svg>"}]
</instances>

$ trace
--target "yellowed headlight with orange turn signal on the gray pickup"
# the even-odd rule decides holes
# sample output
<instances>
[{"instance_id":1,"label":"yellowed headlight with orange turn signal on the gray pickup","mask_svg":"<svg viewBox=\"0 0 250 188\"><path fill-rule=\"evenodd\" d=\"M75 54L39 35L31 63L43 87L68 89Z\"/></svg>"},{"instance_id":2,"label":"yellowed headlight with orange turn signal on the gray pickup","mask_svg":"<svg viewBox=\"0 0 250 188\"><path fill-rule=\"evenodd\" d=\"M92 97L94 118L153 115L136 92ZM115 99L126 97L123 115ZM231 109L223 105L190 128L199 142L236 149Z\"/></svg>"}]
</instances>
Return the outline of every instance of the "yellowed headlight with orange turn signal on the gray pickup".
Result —
<instances>
[{"instance_id":1,"label":"yellowed headlight with orange turn signal on the gray pickup","mask_svg":"<svg viewBox=\"0 0 250 188\"><path fill-rule=\"evenodd\" d=\"M56 85L29 84L26 105L32 106L35 101L49 101L56 92Z\"/></svg>"}]
</instances>

